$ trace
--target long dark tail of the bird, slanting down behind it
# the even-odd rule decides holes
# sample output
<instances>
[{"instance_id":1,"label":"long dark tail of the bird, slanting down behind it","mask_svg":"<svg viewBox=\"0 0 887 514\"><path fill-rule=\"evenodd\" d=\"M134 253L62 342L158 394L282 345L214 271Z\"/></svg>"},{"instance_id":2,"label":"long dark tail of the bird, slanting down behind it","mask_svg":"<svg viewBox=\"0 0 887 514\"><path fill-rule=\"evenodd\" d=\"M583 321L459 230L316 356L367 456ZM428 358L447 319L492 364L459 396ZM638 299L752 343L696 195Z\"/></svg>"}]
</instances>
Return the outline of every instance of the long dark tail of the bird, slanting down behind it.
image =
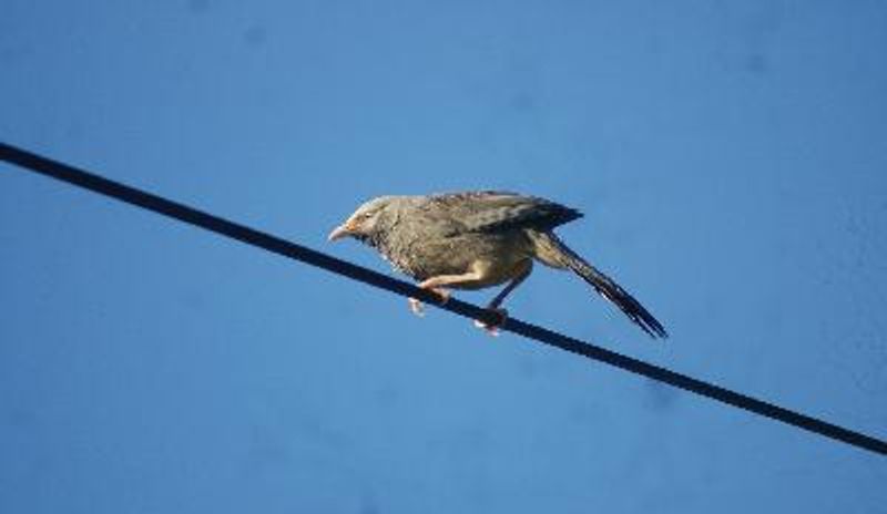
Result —
<instances>
[{"instance_id":1,"label":"long dark tail of the bird, slanting down behind it","mask_svg":"<svg viewBox=\"0 0 887 514\"><path fill-rule=\"evenodd\" d=\"M571 250L552 233L528 230L536 246L536 257L548 266L569 268L589 282L599 295L615 304L639 327L652 338L666 338L669 332L640 301L635 300L613 279L590 265L575 251Z\"/></svg>"}]
</instances>

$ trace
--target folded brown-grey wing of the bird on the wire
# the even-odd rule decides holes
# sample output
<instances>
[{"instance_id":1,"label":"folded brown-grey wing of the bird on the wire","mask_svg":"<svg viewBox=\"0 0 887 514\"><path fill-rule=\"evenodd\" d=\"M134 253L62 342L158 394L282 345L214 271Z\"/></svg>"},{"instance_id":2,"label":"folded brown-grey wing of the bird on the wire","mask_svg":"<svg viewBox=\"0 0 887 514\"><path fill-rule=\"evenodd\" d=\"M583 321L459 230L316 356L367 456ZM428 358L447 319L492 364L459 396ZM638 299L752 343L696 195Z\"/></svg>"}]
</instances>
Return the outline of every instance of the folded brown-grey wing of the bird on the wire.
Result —
<instances>
[{"instance_id":1,"label":"folded brown-grey wing of the bird on the wire","mask_svg":"<svg viewBox=\"0 0 887 514\"><path fill-rule=\"evenodd\" d=\"M428 209L451 219L459 232L509 228L547 232L582 217L579 210L544 198L492 191L434 195L429 197Z\"/></svg>"}]
</instances>

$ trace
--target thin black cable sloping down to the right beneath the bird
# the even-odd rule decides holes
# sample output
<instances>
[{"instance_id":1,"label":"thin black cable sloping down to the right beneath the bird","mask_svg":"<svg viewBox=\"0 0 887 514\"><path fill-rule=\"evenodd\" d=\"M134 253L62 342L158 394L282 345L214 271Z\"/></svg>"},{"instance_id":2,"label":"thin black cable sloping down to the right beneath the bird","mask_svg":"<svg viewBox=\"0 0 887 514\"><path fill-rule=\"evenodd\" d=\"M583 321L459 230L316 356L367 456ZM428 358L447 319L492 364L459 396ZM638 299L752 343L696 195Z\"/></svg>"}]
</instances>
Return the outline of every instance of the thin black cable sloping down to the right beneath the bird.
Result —
<instances>
[{"instance_id":1,"label":"thin black cable sloping down to the right beneath the bird","mask_svg":"<svg viewBox=\"0 0 887 514\"><path fill-rule=\"evenodd\" d=\"M34 153L18 148L4 143L0 143L0 160L16 164L28 171L45 175L74 186L89 189L131 205L136 205L147 210L179 219L181 222L205 228L210 232L221 234L232 239L237 239L247 245L253 245L268 251L273 251L292 259L326 269L338 275L359 280L370 286L389 290L391 292L414 297L437 305L437 296L419 289L412 284L397 280L386 275L370 269L356 266L345 260L330 257L310 248L290 243L279 237L266 234L254 228L214 216L208 213L188 207L151 193L126 186L119 182L110 181L93 173L53 161ZM441 309L449 310L470 319L479 319L488 323L498 321L498 316L471 304L460 301L456 298L447 304L439 306ZM840 441L853 446L868 450L870 452L887 455L887 442L856 432L827 421L819 420L799 412L795 412L774 403L768 403L746 394L742 394L730 389L722 388L708 382L704 382L692 377L681 374L669 369L650 364L631 357L616 353L611 350L553 332L546 328L520 321L514 318L506 320L501 327L529 339L550 345L572 353L587 357L610 366L641 374L660 382L674 386L712 400L720 401L740 409L744 409L755 414L771 418L783 423L817 433L819 435Z\"/></svg>"}]
</instances>

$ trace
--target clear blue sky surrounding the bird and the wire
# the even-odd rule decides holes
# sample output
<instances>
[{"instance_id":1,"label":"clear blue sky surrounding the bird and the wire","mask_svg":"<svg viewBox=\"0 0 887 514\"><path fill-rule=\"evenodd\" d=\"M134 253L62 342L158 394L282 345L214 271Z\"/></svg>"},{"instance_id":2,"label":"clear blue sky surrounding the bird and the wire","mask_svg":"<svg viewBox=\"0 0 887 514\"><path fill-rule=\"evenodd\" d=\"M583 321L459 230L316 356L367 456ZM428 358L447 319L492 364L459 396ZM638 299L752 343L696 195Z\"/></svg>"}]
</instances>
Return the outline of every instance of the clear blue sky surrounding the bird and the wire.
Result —
<instances>
[{"instance_id":1,"label":"clear blue sky surrounding the bird and the wire","mask_svg":"<svg viewBox=\"0 0 887 514\"><path fill-rule=\"evenodd\" d=\"M0 138L387 270L506 188L513 316L887 438L879 1L4 0ZM486 301L493 291L462 294ZM883 512L887 461L0 165L0 512Z\"/></svg>"}]
</instances>

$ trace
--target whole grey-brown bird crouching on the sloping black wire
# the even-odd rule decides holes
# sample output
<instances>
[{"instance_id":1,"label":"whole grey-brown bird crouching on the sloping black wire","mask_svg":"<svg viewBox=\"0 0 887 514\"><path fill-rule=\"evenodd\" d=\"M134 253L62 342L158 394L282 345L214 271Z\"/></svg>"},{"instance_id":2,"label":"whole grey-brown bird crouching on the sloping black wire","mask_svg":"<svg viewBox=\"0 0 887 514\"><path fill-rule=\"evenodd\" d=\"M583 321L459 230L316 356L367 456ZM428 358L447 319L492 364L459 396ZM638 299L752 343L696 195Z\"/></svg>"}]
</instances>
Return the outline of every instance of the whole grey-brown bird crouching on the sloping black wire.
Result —
<instances>
[{"instance_id":1,"label":"whole grey-brown bird crouching on the sloping black wire","mask_svg":"<svg viewBox=\"0 0 887 514\"><path fill-rule=\"evenodd\" d=\"M470 192L430 196L381 196L355 210L329 234L354 237L378 250L395 268L440 296L452 289L507 284L489 302L504 322L500 306L533 268L533 261L570 269L612 301L651 337L667 332L638 300L610 277L567 247L554 228L582 217L554 202L514 193ZM422 306L410 298L414 312ZM498 323L498 325L501 325ZM491 333L496 326L477 322Z\"/></svg>"}]
</instances>

